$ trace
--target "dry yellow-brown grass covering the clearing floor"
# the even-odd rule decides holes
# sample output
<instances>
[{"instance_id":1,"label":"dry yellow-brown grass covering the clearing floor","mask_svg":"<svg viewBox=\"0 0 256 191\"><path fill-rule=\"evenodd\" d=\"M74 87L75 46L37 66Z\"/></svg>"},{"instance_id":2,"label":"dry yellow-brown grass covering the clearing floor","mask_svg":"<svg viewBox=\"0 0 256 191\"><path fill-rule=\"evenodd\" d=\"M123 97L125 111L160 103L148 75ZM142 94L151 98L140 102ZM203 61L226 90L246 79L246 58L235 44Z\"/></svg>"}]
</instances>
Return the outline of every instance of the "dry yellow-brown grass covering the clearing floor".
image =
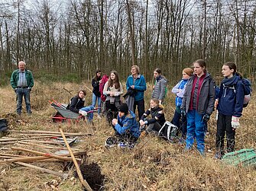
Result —
<instances>
[{"instance_id":1,"label":"dry yellow-brown grass covering the clearing floor","mask_svg":"<svg viewBox=\"0 0 256 191\"><path fill-rule=\"evenodd\" d=\"M36 83L37 84L37 83ZM106 149L105 139L112 135L112 128L104 119L94 119L95 126L79 124L54 124L50 116L55 111L48 100L56 99L67 103L71 95L84 84L37 84L31 94L33 113L25 114L17 123L11 119L11 129L41 129L57 131L59 126L66 132L93 132L84 137L76 148L88 151L89 161L99 164L105 175L105 190L255 190L256 170L244 167L229 167L213 159L216 123L213 114L209 122L209 135L206 137L206 158L195 150L183 153L183 145L170 144L163 139L144 136L133 150L119 148ZM90 87L87 84L87 87ZM151 88L148 87L149 100ZM68 90L68 91L66 91ZM15 94L11 88L0 89L1 114L15 112ZM87 91L86 103L91 103L91 93ZM167 119L171 120L174 111L174 97L168 92L166 100ZM149 102L149 101L147 101ZM148 103L146 104L148 107ZM256 148L254 131L256 116L255 98L243 112L241 128L236 134L236 149ZM40 164L53 170L62 170L61 164ZM0 190L83 190L78 179L61 181L52 175L41 173L14 164L0 166Z\"/></svg>"}]
</instances>

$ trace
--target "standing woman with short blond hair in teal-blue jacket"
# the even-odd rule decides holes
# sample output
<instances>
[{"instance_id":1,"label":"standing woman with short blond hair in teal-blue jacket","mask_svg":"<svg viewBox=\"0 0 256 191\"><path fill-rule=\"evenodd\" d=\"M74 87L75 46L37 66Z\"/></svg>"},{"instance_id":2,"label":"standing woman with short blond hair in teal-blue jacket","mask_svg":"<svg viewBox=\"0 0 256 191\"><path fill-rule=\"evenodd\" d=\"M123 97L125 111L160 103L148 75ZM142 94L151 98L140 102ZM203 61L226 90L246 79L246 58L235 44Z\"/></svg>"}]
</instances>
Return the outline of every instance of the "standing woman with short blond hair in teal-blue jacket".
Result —
<instances>
[{"instance_id":1,"label":"standing woman with short blond hair in teal-blue jacket","mask_svg":"<svg viewBox=\"0 0 256 191\"><path fill-rule=\"evenodd\" d=\"M146 81L143 75L140 75L140 68L138 65L131 66L131 75L128 76L126 81L126 89L132 89L134 94L134 113L136 106L138 107L138 118L141 119L145 111L144 105L144 91L147 90Z\"/></svg>"}]
</instances>

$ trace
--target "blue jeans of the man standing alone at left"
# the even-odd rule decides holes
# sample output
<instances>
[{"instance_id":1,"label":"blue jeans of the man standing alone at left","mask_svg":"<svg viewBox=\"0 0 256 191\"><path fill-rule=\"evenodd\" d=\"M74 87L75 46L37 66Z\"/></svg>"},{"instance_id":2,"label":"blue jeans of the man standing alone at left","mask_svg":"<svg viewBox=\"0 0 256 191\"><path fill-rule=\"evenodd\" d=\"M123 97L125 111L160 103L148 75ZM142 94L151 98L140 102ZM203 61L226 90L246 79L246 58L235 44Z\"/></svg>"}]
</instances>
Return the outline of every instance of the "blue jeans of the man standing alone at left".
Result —
<instances>
[{"instance_id":1,"label":"blue jeans of the man standing alone at left","mask_svg":"<svg viewBox=\"0 0 256 191\"><path fill-rule=\"evenodd\" d=\"M26 103L26 110L28 114L31 114L31 97L30 97L31 89L28 88L17 88L16 93L16 100L17 100L17 113L21 114L22 109L22 97L24 96L24 100Z\"/></svg>"}]
</instances>

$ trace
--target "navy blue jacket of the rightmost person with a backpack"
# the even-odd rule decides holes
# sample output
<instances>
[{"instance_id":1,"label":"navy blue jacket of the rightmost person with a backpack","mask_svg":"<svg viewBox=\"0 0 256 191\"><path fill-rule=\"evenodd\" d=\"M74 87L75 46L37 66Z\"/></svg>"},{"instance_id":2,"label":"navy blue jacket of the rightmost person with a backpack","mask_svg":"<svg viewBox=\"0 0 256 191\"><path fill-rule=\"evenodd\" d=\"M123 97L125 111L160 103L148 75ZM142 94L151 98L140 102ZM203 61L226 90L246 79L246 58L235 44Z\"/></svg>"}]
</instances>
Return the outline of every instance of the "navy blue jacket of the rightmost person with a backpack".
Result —
<instances>
[{"instance_id":1,"label":"navy blue jacket of the rightmost person with a backpack","mask_svg":"<svg viewBox=\"0 0 256 191\"><path fill-rule=\"evenodd\" d=\"M225 116L240 117L243 110L244 98L245 91L241 77L235 74L232 78L224 78L220 85L217 110Z\"/></svg>"}]
</instances>

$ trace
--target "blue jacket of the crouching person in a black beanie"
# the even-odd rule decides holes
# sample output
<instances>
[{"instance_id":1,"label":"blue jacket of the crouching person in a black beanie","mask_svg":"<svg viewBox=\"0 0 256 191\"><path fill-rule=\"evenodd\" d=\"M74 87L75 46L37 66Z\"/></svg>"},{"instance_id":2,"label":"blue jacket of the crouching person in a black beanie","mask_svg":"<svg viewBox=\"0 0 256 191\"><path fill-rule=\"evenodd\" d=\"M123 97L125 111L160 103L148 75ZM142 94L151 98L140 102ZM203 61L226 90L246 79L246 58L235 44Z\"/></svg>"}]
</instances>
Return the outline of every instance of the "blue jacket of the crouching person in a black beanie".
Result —
<instances>
[{"instance_id":1,"label":"blue jacket of the crouching person in a black beanie","mask_svg":"<svg viewBox=\"0 0 256 191\"><path fill-rule=\"evenodd\" d=\"M118 123L115 125L115 130L121 135L128 131L137 138L141 135L135 114L131 110L126 116L119 117L118 115Z\"/></svg>"}]
</instances>

